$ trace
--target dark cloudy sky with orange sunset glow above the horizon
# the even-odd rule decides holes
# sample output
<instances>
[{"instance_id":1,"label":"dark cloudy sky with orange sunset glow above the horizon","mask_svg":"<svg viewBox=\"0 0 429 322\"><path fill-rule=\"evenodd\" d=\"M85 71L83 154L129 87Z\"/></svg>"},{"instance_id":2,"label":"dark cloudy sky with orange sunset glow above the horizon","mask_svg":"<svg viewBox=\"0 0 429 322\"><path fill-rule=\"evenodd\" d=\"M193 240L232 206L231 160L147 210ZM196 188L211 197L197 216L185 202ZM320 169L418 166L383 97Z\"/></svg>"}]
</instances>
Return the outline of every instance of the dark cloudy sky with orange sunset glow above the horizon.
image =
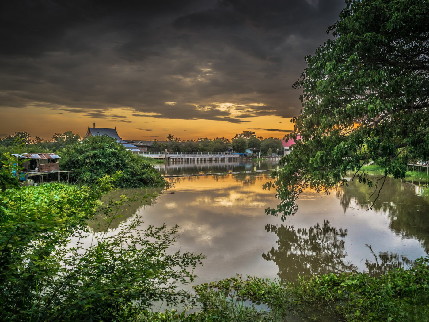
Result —
<instances>
[{"instance_id":1,"label":"dark cloudy sky with orange sunset glow above the horizon","mask_svg":"<svg viewBox=\"0 0 429 322\"><path fill-rule=\"evenodd\" d=\"M283 137L344 0L22 0L0 7L0 137Z\"/></svg>"}]
</instances>

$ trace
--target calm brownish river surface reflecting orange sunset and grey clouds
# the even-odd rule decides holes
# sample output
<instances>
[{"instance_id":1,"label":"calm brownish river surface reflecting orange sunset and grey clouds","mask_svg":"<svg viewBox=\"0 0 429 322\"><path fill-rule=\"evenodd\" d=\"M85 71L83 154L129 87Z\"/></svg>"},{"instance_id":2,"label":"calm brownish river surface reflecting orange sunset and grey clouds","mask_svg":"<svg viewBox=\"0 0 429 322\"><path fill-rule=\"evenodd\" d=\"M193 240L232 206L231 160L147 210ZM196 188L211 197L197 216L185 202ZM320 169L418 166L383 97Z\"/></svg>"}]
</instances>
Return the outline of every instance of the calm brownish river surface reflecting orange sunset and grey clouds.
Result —
<instances>
[{"instance_id":1,"label":"calm brownish river surface reflecting orange sunset and grey clouds","mask_svg":"<svg viewBox=\"0 0 429 322\"><path fill-rule=\"evenodd\" d=\"M298 274L366 271L407 266L429 252L428 200L412 183L387 178L373 210L369 190L351 182L324 196L306 191L299 211L284 222L267 216L273 191L263 190L276 162L161 165L165 174L227 173L172 178L174 188L145 206L129 207L114 223L139 213L147 225L178 224L175 249L207 258L194 284L243 275L294 280ZM121 190L130 194L133 190ZM171 192L174 192L172 194ZM91 225L96 227L95 220ZM114 230L112 231L114 233Z\"/></svg>"}]
</instances>

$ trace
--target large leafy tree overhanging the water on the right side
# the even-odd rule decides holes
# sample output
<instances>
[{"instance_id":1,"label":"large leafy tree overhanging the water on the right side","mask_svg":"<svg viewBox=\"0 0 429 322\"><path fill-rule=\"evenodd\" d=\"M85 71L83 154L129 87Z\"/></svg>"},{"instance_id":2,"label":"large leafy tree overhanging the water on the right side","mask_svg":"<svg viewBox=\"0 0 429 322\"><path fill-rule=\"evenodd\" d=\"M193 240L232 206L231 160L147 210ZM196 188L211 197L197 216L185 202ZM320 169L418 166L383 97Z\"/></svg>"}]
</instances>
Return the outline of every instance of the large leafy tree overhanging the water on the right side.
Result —
<instances>
[{"instance_id":1,"label":"large leafy tree overhanging the water on the right side","mask_svg":"<svg viewBox=\"0 0 429 322\"><path fill-rule=\"evenodd\" d=\"M307 56L295 83L302 111L295 122L293 151L267 184L281 200L267 213L293 214L306 188L329 193L354 171L374 187L386 176L405 176L410 160L429 158L429 2L349 0L329 27L334 40ZM377 162L384 176L368 180L363 164Z\"/></svg>"}]
</instances>

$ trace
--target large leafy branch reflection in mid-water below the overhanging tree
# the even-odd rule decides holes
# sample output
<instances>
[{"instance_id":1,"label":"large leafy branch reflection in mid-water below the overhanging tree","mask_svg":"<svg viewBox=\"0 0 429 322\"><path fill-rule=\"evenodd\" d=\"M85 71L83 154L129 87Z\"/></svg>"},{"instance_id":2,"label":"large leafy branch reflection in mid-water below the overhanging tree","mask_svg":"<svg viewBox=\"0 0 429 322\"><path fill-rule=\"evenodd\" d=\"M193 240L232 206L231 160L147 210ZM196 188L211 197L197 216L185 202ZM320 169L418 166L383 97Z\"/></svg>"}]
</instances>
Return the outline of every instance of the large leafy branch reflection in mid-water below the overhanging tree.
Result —
<instances>
[{"instance_id":1,"label":"large leafy branch reflection in mid-water below the overhanging tree","mask_svg":"<svg viewBox=\"0 0 429 322\"><path fill-rule=\"evenodd\" d=\"M293 226L266 225L267 232L278 236L278 249L263 253L267 261L274 261L281 279L296 279L311 274L340 273L354 271L356 266L347 263L344 237L347 230L336 229L323 221L309 229L295 230Z\"/></svg>"}]
</instances>

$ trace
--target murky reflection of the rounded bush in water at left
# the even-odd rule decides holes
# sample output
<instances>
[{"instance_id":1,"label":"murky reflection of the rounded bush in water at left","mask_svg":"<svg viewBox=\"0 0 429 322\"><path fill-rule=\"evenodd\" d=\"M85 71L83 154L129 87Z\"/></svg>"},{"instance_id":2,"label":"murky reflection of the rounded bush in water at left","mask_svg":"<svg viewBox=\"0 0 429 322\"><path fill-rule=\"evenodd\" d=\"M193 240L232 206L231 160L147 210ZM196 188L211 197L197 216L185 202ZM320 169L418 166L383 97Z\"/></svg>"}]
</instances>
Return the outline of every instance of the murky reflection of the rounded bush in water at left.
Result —
<instances>
[{"instance_id":1,"label":"murky reflection of the rounded bush in water at left","mask_svg":"<svg viewBox=\"0 0 429 322\"><path fill-rule=\"evenodd\" d=\"M118 189L116 191L110 192L110 194L104 196L101 200L107 202L109 199L120 200L122 195L127 197L139 197L139 200L133 201L130 203L125 203L119 208L117 213L118 218L112 220L112 223L109 225L109 229L116 229L121 224L131 216L133 216L141 207L146 207L148 205L155 204L159 194L163 188L151 188L151 189ZM142 198L145 194L150 194L147 198ZM109 217L111 218L111 217ZM90 220L88 220L88 226L93 231L105 230L108 228L106 222L106 216L103 213L99 213Z\"/></svg>"}]
</instances>

